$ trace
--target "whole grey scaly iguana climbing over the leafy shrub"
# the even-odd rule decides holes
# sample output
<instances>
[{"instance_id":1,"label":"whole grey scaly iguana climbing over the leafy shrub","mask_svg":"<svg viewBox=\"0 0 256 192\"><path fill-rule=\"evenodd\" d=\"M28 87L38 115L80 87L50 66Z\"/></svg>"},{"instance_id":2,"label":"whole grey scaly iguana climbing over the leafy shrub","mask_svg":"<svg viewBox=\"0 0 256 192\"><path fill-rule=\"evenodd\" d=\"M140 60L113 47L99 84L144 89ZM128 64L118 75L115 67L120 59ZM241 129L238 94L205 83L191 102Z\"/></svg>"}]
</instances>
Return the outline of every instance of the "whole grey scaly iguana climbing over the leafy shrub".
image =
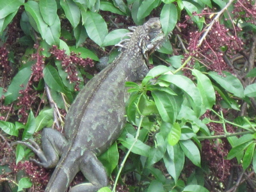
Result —
<instances>
[{"instance_id":1,"label":"whole grey scaly iguana climbing over the leafy shrub","mask_svg":"<svg viewBox=\"0 0 256 192\"><path fill-rule=\"evenodd\" d=\"M55 168L45 192L64 192L77 172L88 182L70 189L71 192L97 191L108 185L104 166L97 156L107 150L124 127L125 102L129 98L126 81L139 81L148 72L148 52L163 42L159 18L132 28L131 39L120 56L93 77L77 95L65 120L65 136L45 128L42 150L32 140L17 141L31 148L45 168Z\"/></svg>"}]
</instances>

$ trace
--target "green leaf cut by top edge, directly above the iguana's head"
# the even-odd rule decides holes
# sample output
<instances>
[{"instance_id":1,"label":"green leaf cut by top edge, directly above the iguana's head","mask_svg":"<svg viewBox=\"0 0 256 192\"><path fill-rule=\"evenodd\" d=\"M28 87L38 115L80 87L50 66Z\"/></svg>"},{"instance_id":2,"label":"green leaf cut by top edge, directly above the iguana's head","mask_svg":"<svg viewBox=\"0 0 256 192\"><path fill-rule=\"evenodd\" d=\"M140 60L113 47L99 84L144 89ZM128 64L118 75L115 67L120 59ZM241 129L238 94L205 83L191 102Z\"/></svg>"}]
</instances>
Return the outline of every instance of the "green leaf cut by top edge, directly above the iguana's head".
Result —
<instances>
[{"instance_id":1,"label":"green leaf cut by top edge, directly above the iguana's head","mask_svg":"<svg viewBox=\"0 0 256 192\"><path fill-rule=\"evenodd\" d=\"M137 18L138 20L143 19L150 15L152 10L156 8L159 4L159 0L145 0L142 1L140 4L140 7L138 8L138 15Z\"/></svg>"}]
</instances>

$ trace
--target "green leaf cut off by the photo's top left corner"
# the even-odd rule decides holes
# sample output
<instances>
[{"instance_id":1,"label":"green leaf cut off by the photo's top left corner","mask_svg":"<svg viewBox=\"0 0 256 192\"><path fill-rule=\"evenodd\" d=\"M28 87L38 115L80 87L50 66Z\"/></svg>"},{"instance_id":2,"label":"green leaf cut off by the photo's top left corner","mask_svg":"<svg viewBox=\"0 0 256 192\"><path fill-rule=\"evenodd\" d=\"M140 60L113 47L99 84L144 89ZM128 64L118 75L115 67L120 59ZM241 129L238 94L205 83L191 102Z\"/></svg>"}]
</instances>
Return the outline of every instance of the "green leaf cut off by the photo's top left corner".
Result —
<instances>
[{"instance_id":1,"label":"green leaf cut off by the photo's top left corner","mask_svg":"<svg viewBox=\"0 0 256 192\"><path fill-rule=\"evenodd\" d=\"M22 5L23 3L24 0L0 0L0 19L3 19L4 17L10 15L11 13L17 12L19 10L20 5Z\"/></svg>"}]
</instances>

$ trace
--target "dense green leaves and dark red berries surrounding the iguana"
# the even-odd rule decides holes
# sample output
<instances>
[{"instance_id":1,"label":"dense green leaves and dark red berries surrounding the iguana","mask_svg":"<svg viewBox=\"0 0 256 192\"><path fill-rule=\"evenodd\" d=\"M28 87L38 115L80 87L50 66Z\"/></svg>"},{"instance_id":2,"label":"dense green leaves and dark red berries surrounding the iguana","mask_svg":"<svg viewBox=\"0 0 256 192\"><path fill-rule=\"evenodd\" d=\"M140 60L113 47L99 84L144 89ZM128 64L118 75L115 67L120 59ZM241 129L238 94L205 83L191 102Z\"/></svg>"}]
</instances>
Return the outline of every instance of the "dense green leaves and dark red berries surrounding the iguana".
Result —
<instances>
[{"instance_id":1,"label":"dense green leaves and dark red berries surrounding the iguana","mask_svg":"<svg viewBox=\"0 0 256 192\"><path fill-rule=\"evenodd\" d=\"M255 3L0 0L0 191L44 191L52 170L11 143L63 131L95 63L150 17L172 36L126 84L128 122L99 157L111 180L100 191L254 191Z\"/></svg>"}]
</instances>

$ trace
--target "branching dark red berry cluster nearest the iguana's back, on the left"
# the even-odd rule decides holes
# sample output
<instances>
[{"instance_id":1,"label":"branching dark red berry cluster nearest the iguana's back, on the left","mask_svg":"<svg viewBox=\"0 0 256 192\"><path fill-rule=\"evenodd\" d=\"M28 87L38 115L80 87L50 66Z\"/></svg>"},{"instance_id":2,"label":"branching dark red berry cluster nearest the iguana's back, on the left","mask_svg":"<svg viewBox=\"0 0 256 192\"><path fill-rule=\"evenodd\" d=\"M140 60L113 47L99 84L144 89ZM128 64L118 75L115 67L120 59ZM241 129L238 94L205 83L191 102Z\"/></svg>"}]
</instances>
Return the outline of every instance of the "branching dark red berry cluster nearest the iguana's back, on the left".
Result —
<instances>
[{"instance_id":1,"label":"branching dark red berry cluster nearest the iguana's back, on the left","mask_svg":"<svg viewBox=\"0 0 256 192\"><path fill-rule=\"evenodd\" d=\"M65 50L60 50L56 45L53 45L50 49L52 55L56 57L56 60L61 61L61 67L67 72L68 80L70 83L75 83L75 90L79 90L79 79L77 67L93 67L94 63L91 58L81 58L79 54L75 52L70 52L70 56L65 54Z\"/></svg>"}]
</instances>

